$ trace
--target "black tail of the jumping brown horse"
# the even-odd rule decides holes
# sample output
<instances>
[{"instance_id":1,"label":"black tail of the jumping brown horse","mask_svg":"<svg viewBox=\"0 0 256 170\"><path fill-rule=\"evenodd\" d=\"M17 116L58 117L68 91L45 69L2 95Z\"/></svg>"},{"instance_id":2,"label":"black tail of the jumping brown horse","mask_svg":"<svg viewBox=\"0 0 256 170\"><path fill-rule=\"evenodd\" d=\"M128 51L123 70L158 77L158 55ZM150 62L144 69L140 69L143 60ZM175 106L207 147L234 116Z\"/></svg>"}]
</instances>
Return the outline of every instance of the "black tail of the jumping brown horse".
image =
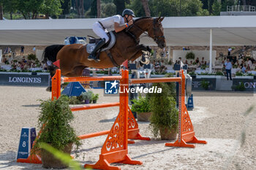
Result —
<instances>
[{"instance_id":1,"label":"black tail of the jumping brown horse","mask_svg":"<svg viewBox=\"0 0 256 170\"><path fill-rule=\"evenodd\" d=\"M61 50L62 47L64 47L64 45L50 45L46 47L44 52L42 53L44 57L43 62L44 63L48 63L48 61L50 61L50 63L55 62L57 54L59 53L59 50ZM48 66L49 66L49 63L48 63Z\"/></svg>"}]
</instances>

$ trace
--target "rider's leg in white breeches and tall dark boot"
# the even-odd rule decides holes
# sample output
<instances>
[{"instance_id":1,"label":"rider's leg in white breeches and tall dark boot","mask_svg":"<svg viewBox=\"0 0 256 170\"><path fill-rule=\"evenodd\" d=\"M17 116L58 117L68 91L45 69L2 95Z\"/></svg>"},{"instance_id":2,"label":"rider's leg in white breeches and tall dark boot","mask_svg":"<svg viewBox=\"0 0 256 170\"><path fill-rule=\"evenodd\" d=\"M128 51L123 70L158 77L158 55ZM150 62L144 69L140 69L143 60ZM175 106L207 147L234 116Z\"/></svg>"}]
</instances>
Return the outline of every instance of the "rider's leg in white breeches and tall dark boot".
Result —
<instances>
[{"instance_id":1,"label":"rider's leg in white breeches and tall dark boot","mask_svg":"<svg viewBox=\"0 0 256 170\"><path fill-rule=\"evenodd\" d=\"M91 54L88 57L89 61L92 60L96 60L97 58L95 58L95 53L97 52L97 50L99 50L103 45L105 45L105 42L108 42L109 38L108 35L105 33L104 29L102 28L102 26L100 26L99 23L94 23L93 25L93 29L95 34L97 34L97 36L99 36L100 38L102 38L102 40L100 40L96 47L94 48L94 50L91 52Z\"/></svg>"}]
</instances>

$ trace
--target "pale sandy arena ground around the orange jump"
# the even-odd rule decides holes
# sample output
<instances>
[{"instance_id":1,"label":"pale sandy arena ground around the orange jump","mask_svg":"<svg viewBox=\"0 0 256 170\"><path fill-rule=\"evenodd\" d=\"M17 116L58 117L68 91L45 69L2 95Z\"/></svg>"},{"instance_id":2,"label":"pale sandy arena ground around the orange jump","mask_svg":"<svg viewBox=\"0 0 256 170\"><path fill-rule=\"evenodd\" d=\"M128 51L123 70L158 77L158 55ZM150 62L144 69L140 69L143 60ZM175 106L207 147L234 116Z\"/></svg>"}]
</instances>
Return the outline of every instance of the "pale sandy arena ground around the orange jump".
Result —
<instances>
[{"instance_id":1,"label":"pale sandy arena ground around the orange jump","mask_svg":"<svg viewBox=\"0 0 256 170\"><path fill-rule=\"evenodd\" d=\"M103 97L99 103L118 101L118 97ZM50 98L45 88L0 86L0 169L42 169L39 164L16 163L20 130L36 127L39 114L37 99ZM195 109L189 111L197 139L208 144L192 148L165 147L158 139L129 144L129 156L143 165L118 165L121 169L256 169L254 95L244 93L194 92ZM73 123L78 135L109 130L118 115L118 107L75 112ZM148 123L139 122L140 134L152 137ZM38 129L37 129L38 130ZM241 135L241 134L245 135ZM95 163L106 136L83 140L76 158L81 166Z\"/></svg>"}]
</instances>

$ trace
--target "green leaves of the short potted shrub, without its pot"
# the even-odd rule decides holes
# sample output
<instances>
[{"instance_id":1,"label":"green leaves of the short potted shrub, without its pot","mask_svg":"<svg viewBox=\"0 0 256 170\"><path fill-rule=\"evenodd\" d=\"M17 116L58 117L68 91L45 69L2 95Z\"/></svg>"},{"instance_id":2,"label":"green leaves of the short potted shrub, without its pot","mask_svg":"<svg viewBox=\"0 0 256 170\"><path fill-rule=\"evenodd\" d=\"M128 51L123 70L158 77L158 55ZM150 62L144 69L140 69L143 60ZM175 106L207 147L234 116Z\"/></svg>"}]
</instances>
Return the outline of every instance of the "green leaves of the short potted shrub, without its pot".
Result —
<instances>
[{"instance_id":1,"label":"green leaves of the short potted shrub, without its pot","mask_svg":"<svg viewBox=\"0 0 256 170\"><path fill-rule=\"evenodd\" d=\"M147 97L139 96L138 99L136 98L132 99L132 102L134 102L134 104L132 104L132 107L131 107L132 112L138 112L138 113L151 112Z\"/></svg>"}]
</instances>

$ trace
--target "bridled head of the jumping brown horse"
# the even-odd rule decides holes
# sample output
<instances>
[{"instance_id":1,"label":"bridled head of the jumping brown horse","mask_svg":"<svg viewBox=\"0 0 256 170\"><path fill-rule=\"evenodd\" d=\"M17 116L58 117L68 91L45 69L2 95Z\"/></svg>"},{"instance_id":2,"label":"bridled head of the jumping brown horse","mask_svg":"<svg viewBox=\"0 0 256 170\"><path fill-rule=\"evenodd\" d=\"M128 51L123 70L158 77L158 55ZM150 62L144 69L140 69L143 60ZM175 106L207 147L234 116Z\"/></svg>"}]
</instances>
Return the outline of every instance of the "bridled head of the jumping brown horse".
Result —
<instances>
[{"instance_id":1,"label":"bridled head of the jumping brown horse","mask_svg":"<svg viewBox=\"0 0 256 170\"><path fill-rule=\"evenodd\" d=\"M164 28L162 28L161 23L163 19L164 17L154 18L151 23L152 25L148 28L148 36L154 39L154 41L157 42L157 45L160 48L164 48L166 46Z\"/></svg>"}]
</instances>

